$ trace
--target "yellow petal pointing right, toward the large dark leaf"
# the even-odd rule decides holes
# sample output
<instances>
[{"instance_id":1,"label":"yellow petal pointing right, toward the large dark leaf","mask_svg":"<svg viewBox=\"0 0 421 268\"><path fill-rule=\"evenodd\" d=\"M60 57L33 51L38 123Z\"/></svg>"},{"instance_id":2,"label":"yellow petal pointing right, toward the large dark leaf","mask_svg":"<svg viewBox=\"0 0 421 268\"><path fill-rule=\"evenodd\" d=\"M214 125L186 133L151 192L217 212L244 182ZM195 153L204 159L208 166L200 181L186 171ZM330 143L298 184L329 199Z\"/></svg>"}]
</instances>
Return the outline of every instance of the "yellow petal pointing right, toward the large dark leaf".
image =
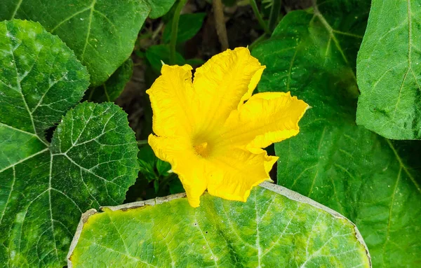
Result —
<instances>
[{"instance_id":1,"label":"yellow petal pointing right, toward the large dark leaf","mask_svg":"<svg viewBox=\"0 0 421 268\"><path fill-rule=\"evenodd\" d=\"M307 108L308 104L289 92L254 94L229 115L222 142L261 153L261 148L298 134L298 122Z\"/></svg>"}]
</instances>

